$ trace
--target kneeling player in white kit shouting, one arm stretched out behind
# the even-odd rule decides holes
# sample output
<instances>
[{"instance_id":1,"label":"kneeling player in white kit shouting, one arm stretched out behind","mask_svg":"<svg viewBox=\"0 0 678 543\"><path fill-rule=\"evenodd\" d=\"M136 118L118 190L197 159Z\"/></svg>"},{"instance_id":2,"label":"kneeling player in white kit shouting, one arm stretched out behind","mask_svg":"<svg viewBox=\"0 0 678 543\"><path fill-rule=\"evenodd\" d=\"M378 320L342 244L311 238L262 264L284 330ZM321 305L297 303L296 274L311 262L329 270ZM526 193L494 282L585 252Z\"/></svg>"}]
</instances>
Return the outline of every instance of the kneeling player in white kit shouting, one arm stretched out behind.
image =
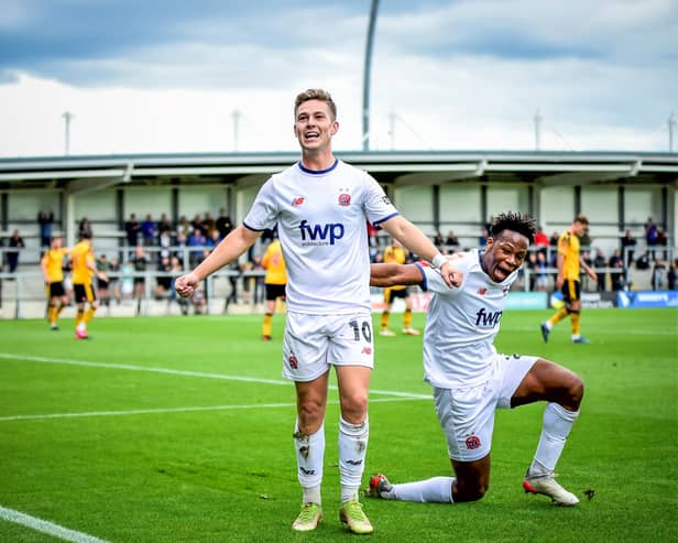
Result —
<instances>
[{"instance_id":1,"label":"kneeling player in white kit shouting, one arm stretched out behind","mask_svg":"<svg viewBox=\"0 0 678 543\"><path fill-rule=\"evenodd\" d=\"M542 436L523 488L559 506L579 502L556 481L554 469L579 415L581 379L543 358L500 355L493 345L506 294L535 232L528 216L497 216L485 250L450 257L463 274L458 289L448 289L436 270L420 264L372 264L373 285L419 284L433 292L424 334L425 380L433 387L456 477L394 485L378 474L370 479L369 496L444 503L481 499L490 484L495 410L546 401Z\"/></svg>"}]
</instances>

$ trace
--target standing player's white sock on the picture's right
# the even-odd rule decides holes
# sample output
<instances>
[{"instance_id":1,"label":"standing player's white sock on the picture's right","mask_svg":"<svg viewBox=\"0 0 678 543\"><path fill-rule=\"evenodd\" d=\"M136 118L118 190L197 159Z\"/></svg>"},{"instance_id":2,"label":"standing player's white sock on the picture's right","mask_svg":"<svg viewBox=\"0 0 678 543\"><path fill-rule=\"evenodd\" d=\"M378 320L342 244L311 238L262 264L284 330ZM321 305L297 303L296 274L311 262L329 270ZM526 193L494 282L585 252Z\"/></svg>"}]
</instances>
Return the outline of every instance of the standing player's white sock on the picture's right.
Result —
<instances>
[{"instance_id":1,"label":"standing player's white sock on the picture's right","mask_svg":"<svg viewBox=\"0 0 678 543\"><path fill-rule=\"evenodd\" d=\"M370 420L351 424L339 417L339 476L341 480L341 503L358 499L362 473L365 467Z\"/></svg>"}]
</instances>

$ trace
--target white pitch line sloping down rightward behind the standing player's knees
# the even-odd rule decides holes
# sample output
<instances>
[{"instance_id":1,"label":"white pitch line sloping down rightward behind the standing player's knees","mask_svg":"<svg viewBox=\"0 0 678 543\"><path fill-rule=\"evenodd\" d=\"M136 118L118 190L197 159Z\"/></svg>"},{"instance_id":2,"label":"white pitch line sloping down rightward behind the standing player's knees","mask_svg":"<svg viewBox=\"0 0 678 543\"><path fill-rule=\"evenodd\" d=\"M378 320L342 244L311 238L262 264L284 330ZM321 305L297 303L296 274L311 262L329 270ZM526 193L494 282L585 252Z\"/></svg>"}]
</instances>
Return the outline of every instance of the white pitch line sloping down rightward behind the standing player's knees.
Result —
<instances>
[{"instance_id":1,"label":"white pitch line sloping down rightward behind the standing player's knees","mask_svg":"<svg viewBox=\"0 0 678 543\"><path fill-rule=\"evenodd\" d=\"M284 381L282 379L263 379L259 377L244 377L244 376L229 376L225 373L206 373L201 371L187 371L187 370L174 370L170 368L155 368L145 366L132 366L129 363L109 363L109 362L90 362L87 360L68 360L63 358L48 358L48 357L34 357L29 355L13 355L11 352L0 352L0 359L7 360L28 360L30 362L40 363L63 363L68 366L83 366L87 368L106 368L118 369L128 371L150 371L152 373L166 373L171 376L185 376L185 377L200 377L206 379L222 379L226 381L242 381L242 382L255 382L265 384L284 384L291 385L292 381ZM331 385L330 389L337 390L337 387ZM418 394L414 392L397 392L394 390L370 390L373 394L384 394L397 398L415 398L419 400L428 400L430 394Z\"/></svg>"}]
</instances>

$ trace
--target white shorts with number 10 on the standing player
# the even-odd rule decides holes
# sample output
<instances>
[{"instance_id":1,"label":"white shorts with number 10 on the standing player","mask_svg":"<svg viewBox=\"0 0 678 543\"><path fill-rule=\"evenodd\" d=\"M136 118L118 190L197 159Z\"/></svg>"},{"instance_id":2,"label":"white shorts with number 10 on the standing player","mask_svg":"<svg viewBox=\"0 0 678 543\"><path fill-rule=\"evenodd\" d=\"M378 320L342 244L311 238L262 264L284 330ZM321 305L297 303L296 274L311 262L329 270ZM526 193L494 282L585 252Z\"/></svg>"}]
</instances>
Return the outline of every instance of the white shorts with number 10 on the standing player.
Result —
<instances>
[{"instance_id":1,"label":"white shorts with number 10 on the standing player","mask_svg":"<svg viewBox=\"0 0 678 543\"><path fill-rule=\"evenodd\" d=\"M287 312L283 341L283 377L313 381L330 366L374 368L372 314L306 315Z\"/></svg>"}]
</instances>

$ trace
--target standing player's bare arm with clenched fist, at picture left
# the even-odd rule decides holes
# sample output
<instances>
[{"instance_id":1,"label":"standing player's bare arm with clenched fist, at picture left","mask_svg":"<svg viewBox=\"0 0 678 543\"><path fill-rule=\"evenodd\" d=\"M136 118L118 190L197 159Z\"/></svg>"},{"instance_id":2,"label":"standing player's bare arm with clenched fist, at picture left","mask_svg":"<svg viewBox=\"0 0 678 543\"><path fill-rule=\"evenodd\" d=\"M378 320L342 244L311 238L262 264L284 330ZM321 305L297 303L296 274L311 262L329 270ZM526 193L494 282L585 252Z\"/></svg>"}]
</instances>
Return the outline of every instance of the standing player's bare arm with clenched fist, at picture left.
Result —
<instances>
[{"instance_id":1,"label":"standing player's bare arm with clenched fist, at picture left","mask_svg":"<svg viewBox=\"0 0 678 543\"><path fill-rule=\"evenodd\" d=\"M176 279L174 289L177 294L183 297L190 296L200 284L200 281L240 257L252 247L259 236L261 236L261 232L250 230L240 225L223 238L195 270Z\"/></svg>"}]
</instances>

